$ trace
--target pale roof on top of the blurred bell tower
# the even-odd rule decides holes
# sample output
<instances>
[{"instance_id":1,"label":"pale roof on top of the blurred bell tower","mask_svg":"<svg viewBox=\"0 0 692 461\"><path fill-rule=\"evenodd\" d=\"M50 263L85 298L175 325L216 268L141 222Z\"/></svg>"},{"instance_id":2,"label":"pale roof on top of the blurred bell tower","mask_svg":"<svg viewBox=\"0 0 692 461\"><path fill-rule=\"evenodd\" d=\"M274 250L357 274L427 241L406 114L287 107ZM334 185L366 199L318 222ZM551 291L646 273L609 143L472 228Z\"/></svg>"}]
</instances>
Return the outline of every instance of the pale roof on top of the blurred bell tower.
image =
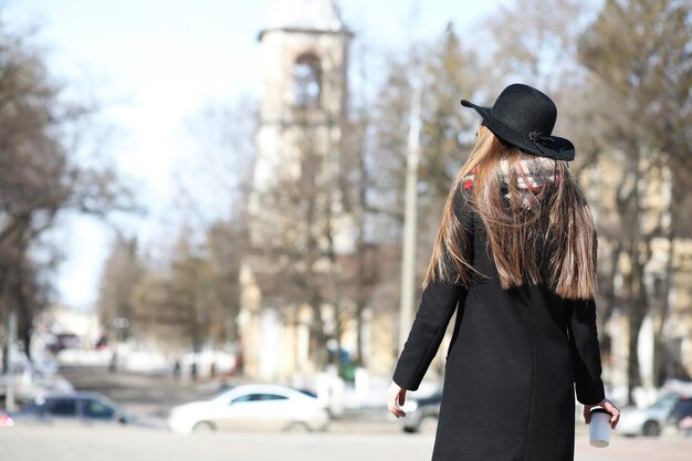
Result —
<instances>
[{"instance_id":1,"label":"pale roof on top of the blurred bell tower","mask_svg":"<svg viewBox=\"0 0 692 461\"><path fill-rule=\"evenodd\" d=\"M260 32L260 40L272 30L349 33L334 0L274 0Z\"/></svg>"}]
</instances>

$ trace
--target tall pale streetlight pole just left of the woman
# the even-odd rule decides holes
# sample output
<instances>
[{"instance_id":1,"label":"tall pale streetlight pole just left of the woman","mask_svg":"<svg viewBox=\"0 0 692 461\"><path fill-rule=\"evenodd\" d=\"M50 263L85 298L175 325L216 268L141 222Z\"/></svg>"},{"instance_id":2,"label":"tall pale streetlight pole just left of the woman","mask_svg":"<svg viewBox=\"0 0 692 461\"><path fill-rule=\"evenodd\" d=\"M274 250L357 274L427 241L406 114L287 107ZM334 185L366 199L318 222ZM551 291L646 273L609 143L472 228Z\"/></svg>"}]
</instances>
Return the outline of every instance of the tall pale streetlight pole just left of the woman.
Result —
<instances>
[{"instance_id":1,"label":"tall pale streetlight pole just left of the woman","mask_svg":"<svg viewBox=\"0 0 692 461\"><path fill-rule=\"evenodd\" d=\"M416 240L418 230L418 164L420 163L422 80L413 84L406 156L406 210L403 214L403 258L401 268L401 306L399 313L399 352L413 322L416 300Z\"/></svg>"}]
</instances>

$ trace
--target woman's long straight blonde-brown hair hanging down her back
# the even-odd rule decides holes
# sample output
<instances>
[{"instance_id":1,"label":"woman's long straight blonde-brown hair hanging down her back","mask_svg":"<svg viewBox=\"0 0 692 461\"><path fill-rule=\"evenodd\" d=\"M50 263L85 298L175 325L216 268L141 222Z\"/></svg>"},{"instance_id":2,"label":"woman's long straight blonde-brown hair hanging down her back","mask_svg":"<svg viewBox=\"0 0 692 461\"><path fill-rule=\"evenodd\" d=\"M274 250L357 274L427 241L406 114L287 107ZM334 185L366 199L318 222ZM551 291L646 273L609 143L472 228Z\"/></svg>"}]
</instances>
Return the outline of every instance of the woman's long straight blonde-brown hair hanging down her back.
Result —
<instances>
[{"instance_id":1,"label":"woman's long straight blonde-brown hair hanging down her back","mask_svg":"<svg viewBox=\"0 0 692 461\"><path fill-rule=\"evenodd\" d=\"M525 154L481 126L447 198L424 285L443 280L468 287L483 275L469 259L469 229L454 212L460 199L485 228L504 290L546 283L565 298L596 294L594 219L565 161Z\"/></svg>"}]
</instances>

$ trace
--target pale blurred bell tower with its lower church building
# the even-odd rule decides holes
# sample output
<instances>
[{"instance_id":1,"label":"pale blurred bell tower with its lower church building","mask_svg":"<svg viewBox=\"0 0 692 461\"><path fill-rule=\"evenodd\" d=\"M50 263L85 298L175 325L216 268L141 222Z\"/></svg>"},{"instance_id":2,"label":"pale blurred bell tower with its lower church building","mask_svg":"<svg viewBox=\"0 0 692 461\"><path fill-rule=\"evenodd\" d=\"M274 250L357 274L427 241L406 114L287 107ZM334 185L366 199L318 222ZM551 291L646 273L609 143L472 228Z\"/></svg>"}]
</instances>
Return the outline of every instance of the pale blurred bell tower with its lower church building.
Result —
<instances>
[{"instance_id":1,"label":"pale blurred bell tower with its lower church building","mask_svg":"<svg viewBox=\"0 0 692 461\"><path fill-rule=\"evenodd\" d=\"M253 250L242 269L240 315L243 371L256 379L310 376L334 354L350 362L358 349L380 373L389 373L394 359L397 323L386 317L391 310L374 311L371 301L386 286L384 273L398 277L397 250L361 244L357 251L354 213L339 188L348 168L352 38L332 0L275 1L259 33ZM382 255L388 262L378 266L376 286L359 258ZM364 290L367 306L358 302Z\"/></svg>"}]
</instances>

